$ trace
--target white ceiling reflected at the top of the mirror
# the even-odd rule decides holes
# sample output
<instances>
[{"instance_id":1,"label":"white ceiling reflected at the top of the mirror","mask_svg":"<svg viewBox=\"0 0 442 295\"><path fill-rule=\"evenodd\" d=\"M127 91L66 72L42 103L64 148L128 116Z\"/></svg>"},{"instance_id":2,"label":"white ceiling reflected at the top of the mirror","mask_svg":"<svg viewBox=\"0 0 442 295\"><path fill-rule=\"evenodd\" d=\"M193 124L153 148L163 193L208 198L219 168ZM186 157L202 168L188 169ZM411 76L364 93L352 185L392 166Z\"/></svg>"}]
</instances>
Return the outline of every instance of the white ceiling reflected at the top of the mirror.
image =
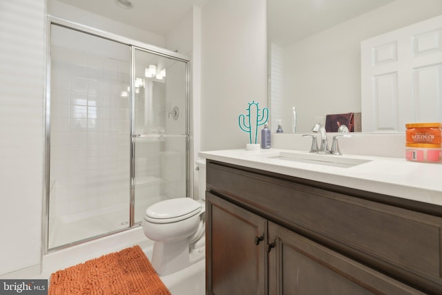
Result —
<instances>
[{"instance_id":1,"label":"white ceiling reflected at the top of the mirror","mask_svg":"<svg viewBox=\"0 0 442 295\"><path fill-rule=\"evenodd\" d=\"M363 15L395 0L267 0L269 41L280 46Z\"/></svg>"}]
</instances>

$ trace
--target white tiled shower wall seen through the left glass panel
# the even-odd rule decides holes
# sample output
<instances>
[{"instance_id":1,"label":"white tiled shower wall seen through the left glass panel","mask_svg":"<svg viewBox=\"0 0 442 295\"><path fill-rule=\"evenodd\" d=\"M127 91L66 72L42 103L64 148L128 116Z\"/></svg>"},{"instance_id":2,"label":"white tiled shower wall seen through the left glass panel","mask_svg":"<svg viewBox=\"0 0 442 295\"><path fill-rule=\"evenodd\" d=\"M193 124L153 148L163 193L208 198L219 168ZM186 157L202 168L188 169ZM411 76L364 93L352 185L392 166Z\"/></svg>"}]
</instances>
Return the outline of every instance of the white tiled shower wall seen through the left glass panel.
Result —
<instances>
[{"instance_id":1,"label":"white tiled shower wall seen through the left glass panel","mask_svg":"<svg viewBox=\"0 0 442 295\"><path fill-rule=\"evenodd\" d=\"M55 44L51 48L49 247L127 227L130 65L106 56L106 50L97 51ZM73 230L74 221L115 210L125 216L108 229L86 231L70 241L53 238ZM86 228L94 226L91 222Z\"/></svg>"}]
</instances>

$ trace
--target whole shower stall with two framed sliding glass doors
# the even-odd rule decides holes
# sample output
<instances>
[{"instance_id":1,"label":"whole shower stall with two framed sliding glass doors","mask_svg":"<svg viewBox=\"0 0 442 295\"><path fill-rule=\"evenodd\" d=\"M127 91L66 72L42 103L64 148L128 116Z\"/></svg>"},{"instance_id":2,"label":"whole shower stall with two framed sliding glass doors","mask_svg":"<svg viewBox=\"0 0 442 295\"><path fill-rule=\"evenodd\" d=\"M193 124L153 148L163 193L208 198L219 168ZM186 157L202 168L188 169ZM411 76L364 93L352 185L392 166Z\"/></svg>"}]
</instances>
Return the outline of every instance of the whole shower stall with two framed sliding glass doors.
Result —
<instances>
[{"instance_id":1,"label":"whole shower stall with two framed sliding glass doors","mask_svg":"<svg viewBox=\"0 0 442 295\"><path fill-rule=\"evenodd\" d=\"M189 59L50 18L46 251L140 225L191 196Z\"/></svg>"}]
</instances>

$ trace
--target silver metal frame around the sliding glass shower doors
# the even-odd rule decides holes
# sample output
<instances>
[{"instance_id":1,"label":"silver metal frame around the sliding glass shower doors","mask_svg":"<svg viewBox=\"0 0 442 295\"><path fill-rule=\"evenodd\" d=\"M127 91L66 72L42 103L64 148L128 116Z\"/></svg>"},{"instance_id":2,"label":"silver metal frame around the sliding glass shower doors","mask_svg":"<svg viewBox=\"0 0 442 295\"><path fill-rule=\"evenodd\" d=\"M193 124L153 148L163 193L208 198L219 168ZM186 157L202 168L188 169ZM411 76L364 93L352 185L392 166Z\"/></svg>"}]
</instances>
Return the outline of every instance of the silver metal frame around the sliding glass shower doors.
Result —
<instances>
[{"instance_id":1,"label":"silver metal frame around the sliding glass shower doors","mask_svg":"<svg viewBox=\"0 0 442 295\"><path fill-rule=\"evenodd\" d=\"M98 236L93 236L90 238L86 238L83 240L77 240L75 242L70 242L66 245L60 245L57 247L53 247L48 249L48 238L49 238L49 195L50 195L50 50L51 50L51 26L61 26L64 28L68 28L71 30L76 30L78 32L84 32L88 35L93 35L95 37L100 37L104 39L108 39L110 41L115 41L120 44L124 44L129 46L130 48L130 60L131 60L131 70L129 74L130 79L130 88L131 88L131 97L130 97L130 137L131 137L131 149L130 149L130 181L131 181L131 191L129 196L130 206L129 206L129 226L124 229L117 229L115 231L110 231L104 234L100 234ZM167 50L164 48L160 48L157 46L153 46L150 44L145 44L140 41L136 41L127 37L122 37L120 35L113 34L111 32L106 32L104 30L99 30L96 28L92 28L90 26L84 26L80 23L75 23L73 21L67 21L65 19L60 19L59 17L53 17L48 15L47 23L46 23L46 99L45 99L45 118L44 122L46 123L45 127L45 171L44 171L44 207L43 207L43 222L42 226L44 236L43 245L44 245L44 254L48 254L49 252L56 251L59 249L64 249L73 245L79 245L83 242L87 242L90 240L95 240L97 238L102 238L105 236L110 236L112 234L116 234L118 232L127 231L129 229L133 229L133 227L137 227L141 225L141 222L135 222L135 139L139 137L139 135L135 133L135 50L142 50L146 53L152 53L155 55L160 55L162 57L167 57L171 59L175 59L177 61L182 61L186 64L186 135L171 135L171 136L185 136L186 137L186 197L193 196L193 166L191 163L193 162L193 144L191 139L193 138L192 129L191 129L191 59L186 55L182 55L180 53L176 53L171 50ZM153 135L155 136L155 135ZM161 135L166 137L167 135Z\"/></svg>"}]
</instances>

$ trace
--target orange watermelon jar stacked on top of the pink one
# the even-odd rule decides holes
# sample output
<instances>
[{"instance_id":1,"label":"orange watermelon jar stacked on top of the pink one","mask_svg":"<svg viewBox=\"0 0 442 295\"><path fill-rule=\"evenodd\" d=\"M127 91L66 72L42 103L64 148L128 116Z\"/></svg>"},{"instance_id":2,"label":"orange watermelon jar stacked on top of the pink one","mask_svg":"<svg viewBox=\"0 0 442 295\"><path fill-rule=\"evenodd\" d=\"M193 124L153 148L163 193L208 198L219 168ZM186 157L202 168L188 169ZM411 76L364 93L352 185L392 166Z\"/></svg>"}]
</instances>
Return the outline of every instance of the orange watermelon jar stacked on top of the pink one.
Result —
<instances>
[{"instance_id":1,"label":"orange watermelon jar stacked on top of the pink one","mask_svg":"<svg viewBox=\"0 0 442 295\"><path fill-rule=\"evenodd\" d=\"M407 127L407 144L441 144L441 123L412 123Z\"/></svg>"}]
</instances>

